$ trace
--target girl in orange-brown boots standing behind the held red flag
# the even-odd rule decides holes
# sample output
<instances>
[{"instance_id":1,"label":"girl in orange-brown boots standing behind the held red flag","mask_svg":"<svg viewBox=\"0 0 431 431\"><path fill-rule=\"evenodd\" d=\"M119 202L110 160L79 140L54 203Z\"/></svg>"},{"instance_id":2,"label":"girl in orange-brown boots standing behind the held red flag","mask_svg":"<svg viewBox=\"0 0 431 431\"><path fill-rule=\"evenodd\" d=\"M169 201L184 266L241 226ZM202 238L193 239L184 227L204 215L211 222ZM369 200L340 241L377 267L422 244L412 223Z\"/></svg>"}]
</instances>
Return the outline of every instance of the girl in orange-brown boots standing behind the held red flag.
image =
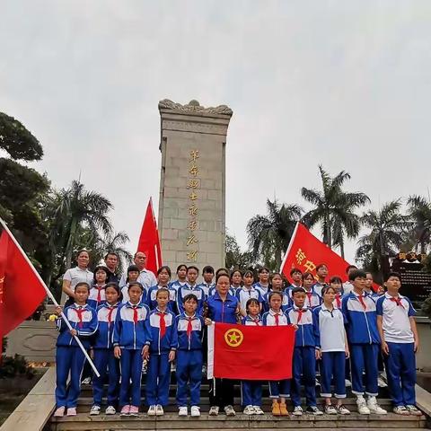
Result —
<instances>
[{"instance_id":1,"label":"girl in orange-brown boots standing behind the held red flag","mask_svg":"<svg viewBox=\"0 0 431 431\"><path fill-rule=\"evenodd\" d=\"M281 310L282 292L271 292L268 296L269 311L262 316L263 326L286 326L289 324L286 314ZM272 414L288 416L286 398L290 394L290 380L269 382L269 398L272 398Z\"/></svg>"}]
</instances>

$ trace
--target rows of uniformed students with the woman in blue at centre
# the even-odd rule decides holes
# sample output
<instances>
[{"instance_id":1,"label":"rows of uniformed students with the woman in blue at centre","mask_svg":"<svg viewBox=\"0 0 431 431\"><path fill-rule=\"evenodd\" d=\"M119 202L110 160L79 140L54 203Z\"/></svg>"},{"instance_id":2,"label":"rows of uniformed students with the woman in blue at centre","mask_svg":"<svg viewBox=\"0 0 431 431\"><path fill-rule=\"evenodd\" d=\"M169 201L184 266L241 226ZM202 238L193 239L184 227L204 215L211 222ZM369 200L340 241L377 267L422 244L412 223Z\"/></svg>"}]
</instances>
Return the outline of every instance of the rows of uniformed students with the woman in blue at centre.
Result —
<instances>
[{"instance_id":1,"label":"rows of uniformed students with the woman in blue at centre","mask_svg":"<svg viewBox=\"0 0 431 431\"><path fill-rule=\"evenodd\" d=\"M269 382L271 411L275 416L288 415L289 397L293 415L303 414L302 385L306 413L323 414L316 400L318 370L326 414L350 413L342 402L346 398L345 376L349 370L358 412L386 414L376 400L381 354L393 411L420 415L415 400L418 331L409 299L399 294L400 276L391 273L385 280L386 292L374 294L367 273L356 267L347 271L347 283L331 277L327 284L325 265L317 268L317 281L311 273L293 268L290 273L293 283L285 287L281 274L269 276L268 268L259 269L257 283L250 270L229 273L220 268L213 283L214 268L207 266L202 271L203 282L198 284L199 271L195 266L180 265L173 282L171 269L163 266L157 271L154 286L145 286L143 270L135 265L128 268L119 284L107 282L110 275L107 268L96 267L92 283L87 279L78 281L71 291L72 301L64 309L73 330L61 319L61 308L57 309L60 333L54 416L76 415L85 358L75 337L91 353L101 374L92 377L91 415L101 412L103 387L108 379L105 413L113 415L119 409L122 416L137 416L143 365L146 365L147 414L163 415L175 361L179 415L188 416L190 406L190 415L200 416L200 384L207 354L205 327L213 322L294 325L293 377ZM145 277L152 282L148 275ZM335 405L331 403L332 386ZM262 383L244 381L241 388L243 413L263 414ZM209 415L218 415L220 409L227 416L235 415L233 381L211 380L209 400Z\"/></svg>"}]
</instances>

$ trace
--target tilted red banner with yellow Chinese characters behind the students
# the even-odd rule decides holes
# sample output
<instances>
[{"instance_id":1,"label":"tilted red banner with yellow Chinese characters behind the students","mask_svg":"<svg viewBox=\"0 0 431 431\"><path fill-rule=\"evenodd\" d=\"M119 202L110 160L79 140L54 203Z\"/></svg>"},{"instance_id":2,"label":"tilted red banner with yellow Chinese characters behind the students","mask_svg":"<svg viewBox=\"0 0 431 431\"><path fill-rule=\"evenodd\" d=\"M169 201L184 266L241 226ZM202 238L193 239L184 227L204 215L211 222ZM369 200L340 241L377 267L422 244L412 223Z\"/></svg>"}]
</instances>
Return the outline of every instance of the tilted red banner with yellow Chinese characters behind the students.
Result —
<instances>
[{"instance_id":1,"label":"tilted red banner with yellow Chinese characters behind the students","mask_svg":"<svg viewBox=\"0 0 431 431\"><path fill-rule=\"evenodd\" d=\"M316 267L321 263L328 267L327 281L332 276L346 279L346 268L349 263L318 240L303 224L297 223L280 271L292 282L290 277L292 268L311 272L315 276Z\"/></svg>"}]
</instances>

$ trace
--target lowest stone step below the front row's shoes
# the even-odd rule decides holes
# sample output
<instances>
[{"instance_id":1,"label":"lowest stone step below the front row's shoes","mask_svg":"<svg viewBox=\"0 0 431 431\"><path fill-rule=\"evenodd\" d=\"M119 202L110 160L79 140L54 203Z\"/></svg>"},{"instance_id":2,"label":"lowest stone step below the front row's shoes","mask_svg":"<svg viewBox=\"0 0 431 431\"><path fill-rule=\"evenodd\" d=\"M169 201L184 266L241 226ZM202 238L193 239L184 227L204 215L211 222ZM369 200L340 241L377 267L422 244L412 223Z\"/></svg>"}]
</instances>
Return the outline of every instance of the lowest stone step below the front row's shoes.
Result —
<instances>
[{"instance_id":1,"label":"lowest stone step below the front row's shoes","mask_svg":"<svg viewBox=\"0 0 431 431\"><path fill-rule=\"evenodd\" d=\"M167 413L163 417L148 417L141 413L138 418L100 415L91 417L87 414L78 414L75 418L52 418L48 424L50 431L73 431L73 430L144 430L144 429L202 429L212 430L237 430L237 429L382 429L398 428L412 429L425 428L426 418L402 417L389 413L388 415L357 415L349 416L323 415L312 417L303 415L301 418L284 417L275 418L272 415L248 417L237 414L235 417L227 418L224 414L218 417L210 417L203 414L200 418L179 418L176 414Z\"/></svg>"}]
</instances>

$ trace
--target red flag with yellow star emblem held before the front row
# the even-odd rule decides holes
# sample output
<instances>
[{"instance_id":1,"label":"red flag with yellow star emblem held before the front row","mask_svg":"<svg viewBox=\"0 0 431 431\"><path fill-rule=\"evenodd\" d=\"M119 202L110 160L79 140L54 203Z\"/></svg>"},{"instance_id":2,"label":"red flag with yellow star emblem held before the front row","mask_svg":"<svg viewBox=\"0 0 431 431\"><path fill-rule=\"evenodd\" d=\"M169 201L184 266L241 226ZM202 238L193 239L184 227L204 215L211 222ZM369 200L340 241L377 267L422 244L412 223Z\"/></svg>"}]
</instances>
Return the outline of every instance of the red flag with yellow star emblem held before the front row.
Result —
<instances>
[{"instance_id":1,"label":"red flag with yellow star emblem held before the front row","mask_svg":"<svg viewBox=\"0 0 431 431\"><path fill-rule=\"evenodd\" d=\"M208 326L208 379L292 378L293 326Z\"/></svg>"}]
</instances>

